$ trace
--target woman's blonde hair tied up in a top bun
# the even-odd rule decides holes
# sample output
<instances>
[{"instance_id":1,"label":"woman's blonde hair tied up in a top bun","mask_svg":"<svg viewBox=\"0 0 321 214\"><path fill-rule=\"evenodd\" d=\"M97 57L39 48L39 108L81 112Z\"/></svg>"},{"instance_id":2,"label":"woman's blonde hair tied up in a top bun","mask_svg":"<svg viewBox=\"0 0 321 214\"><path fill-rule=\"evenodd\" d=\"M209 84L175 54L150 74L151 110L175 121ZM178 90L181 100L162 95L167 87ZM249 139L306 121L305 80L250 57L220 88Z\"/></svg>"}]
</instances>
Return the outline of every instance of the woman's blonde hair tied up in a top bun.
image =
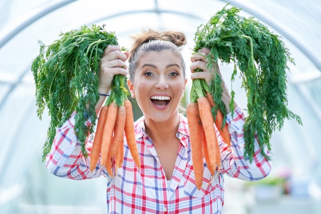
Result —
<instances>
[{"instance_id":1,"label":"woman's blonde hair tied up in a top bun","mask_svg":"<svg viewBox=\"0 0 321 214\"><path fill-rule=\"evenodd\" d=\"M185 61L182 56L182 48L186 45L186 36L180 31L156 31L156 30L143 30L142 33L131 36L133 45L129 55L129 79L133 81L134 72L137 63L141 56L150 51L160 52L163 50L170 50L180 56L184 77L185 77Z\"/></svg>"}]
</instances>

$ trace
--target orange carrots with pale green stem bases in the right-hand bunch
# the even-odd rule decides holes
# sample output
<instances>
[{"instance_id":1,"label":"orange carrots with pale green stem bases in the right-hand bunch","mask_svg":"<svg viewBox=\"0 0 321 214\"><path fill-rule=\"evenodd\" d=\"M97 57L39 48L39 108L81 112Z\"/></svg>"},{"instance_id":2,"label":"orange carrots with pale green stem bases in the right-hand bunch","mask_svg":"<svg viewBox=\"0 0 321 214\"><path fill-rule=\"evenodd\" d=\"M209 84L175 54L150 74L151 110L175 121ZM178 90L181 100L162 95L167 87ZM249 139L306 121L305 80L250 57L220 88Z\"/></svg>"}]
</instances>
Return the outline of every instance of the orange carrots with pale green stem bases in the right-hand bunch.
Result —
<instances>
[{"instance_id":1,"label":"orange carrots with pale green stem bases in the right-hand bunch","mask_svg":"<svg viewBox=\"0 0 321 214\"><path fill-rule=\"evenodd\" d=\"M198 72L202 71L198 70ZM214 123L228 145L230 145L231 139L222 112L215 108L213 97L209 93L209 86L204 79L192 81L190 99L191 102L187 105L186 115L195 183L197 189L200 189L204 173L203 158L205 158L212 176L214 176L216 167L220 166L220 152Z\"/></svg>"}]
</instances>

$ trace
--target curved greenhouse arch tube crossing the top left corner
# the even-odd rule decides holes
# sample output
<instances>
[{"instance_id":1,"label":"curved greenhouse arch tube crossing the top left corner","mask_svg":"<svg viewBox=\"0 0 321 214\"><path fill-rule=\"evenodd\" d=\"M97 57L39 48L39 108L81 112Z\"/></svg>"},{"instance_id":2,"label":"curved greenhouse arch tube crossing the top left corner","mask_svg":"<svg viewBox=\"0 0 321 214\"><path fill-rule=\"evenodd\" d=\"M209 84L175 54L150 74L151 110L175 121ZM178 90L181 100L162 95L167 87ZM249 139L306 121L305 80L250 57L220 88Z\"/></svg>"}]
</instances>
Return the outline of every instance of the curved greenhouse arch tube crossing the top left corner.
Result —
<instances>
[{"instance_id":1,"label":"curved greenhouse arch tube crossing the top left corner","mask_svg":"<svg viewBox=\"0 0 321 214\"><path fill-rule=\"evenodd\" d=\"M54 2L53 4L49 4L45 9L42 9L41 11L37 12L35 15L27 18L24 22L20 23L18 26L16 26L14 29L12 29L9 33L5 34L3 38L0 38L0 49L8 42L10 39L12 39L15 35L17 35L19 32L27 28L29 25L34 23L39 18L47 15L48 13L59 9L61 7L64 7L65 5L68 5L72 2L75 2L76 0L63 0L59 2Z\"/></svg>"}]
</instances>

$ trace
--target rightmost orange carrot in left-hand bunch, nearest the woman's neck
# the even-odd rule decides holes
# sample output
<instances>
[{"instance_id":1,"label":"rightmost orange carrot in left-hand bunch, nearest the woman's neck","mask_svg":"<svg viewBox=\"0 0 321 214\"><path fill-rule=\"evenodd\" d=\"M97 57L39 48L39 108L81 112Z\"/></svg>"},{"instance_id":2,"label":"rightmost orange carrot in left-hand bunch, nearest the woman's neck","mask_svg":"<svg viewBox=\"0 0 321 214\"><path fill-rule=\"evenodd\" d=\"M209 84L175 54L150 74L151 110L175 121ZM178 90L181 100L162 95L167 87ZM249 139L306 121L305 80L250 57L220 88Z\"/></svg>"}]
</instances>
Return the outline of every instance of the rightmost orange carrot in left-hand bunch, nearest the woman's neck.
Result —
<instances>
[{"instance_id":1,"label":"rightmost orange carrot in left-hand bunch, nearest the woman's neck","mask_svg":"<svg viewBox=\"0 0 321 214\"><path fill-rule=\"evenodd\" d=\"M138 168L141 169L141 161L139 159L139 153L136 145L132 104L129 100L125 100L124 105L126 108L125 135L127 139L127 144L129 147L129 151L133 156L134 162L136 163Z\"/></svg>"}]
</instances>

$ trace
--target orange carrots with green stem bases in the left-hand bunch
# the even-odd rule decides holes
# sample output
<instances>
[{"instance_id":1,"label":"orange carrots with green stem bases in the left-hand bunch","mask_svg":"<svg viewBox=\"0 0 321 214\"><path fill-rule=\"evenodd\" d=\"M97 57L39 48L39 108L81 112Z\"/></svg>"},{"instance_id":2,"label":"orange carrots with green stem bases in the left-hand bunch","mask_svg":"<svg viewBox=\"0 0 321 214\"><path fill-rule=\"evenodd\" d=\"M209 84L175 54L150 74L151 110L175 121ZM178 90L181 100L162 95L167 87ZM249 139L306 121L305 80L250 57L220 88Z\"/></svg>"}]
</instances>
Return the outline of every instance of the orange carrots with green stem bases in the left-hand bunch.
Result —
<instances>
[{"instance_id":1,"label":"orange carrots with green stem bases in the left-hand bunch","mask_svg":"<svg viewBox=\"0 0 321 214\"><path fill-rule=\"evenodd\" d=\"M132 104L127 99L124 78L123 75L114 76L110 96L99 113L90 154L90 170L96 168L101 156L101 165L106 167L112 177L111 165L114 158L115 168L121 167L124 160L124 132L133 160L138 168L141 167L135 140Z\"/></svg>"}]
</instances>

